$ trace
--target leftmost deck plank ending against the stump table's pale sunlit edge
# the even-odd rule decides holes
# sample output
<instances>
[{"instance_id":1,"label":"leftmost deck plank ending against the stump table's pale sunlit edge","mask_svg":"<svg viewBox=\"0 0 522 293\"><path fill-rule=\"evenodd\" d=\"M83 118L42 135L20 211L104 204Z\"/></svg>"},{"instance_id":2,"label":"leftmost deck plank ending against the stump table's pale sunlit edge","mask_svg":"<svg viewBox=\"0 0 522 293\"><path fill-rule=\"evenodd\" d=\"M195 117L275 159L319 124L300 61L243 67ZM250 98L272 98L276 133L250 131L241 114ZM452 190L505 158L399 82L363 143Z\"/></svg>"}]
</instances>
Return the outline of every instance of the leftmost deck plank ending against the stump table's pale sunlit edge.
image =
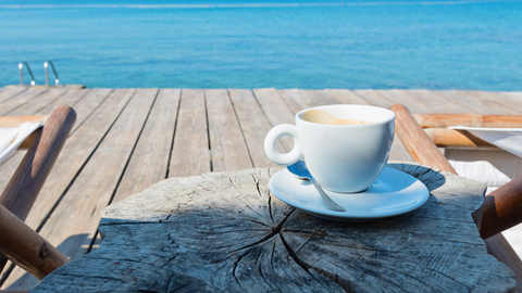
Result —
<instances>
[{"instance_id":1,"label":"leftmost deck plank ending against the stump table's pale sunlit edge","mask_svg":"<svg viewBox=\"0 0 522 293\"><path fill-rule=\"evenodd\" d=\"M156 92L150 90L144 94ZM158 93L112 202L124 200L166 178L181 93L179 89L162 89Z\"/></svg>"}]
</instances>

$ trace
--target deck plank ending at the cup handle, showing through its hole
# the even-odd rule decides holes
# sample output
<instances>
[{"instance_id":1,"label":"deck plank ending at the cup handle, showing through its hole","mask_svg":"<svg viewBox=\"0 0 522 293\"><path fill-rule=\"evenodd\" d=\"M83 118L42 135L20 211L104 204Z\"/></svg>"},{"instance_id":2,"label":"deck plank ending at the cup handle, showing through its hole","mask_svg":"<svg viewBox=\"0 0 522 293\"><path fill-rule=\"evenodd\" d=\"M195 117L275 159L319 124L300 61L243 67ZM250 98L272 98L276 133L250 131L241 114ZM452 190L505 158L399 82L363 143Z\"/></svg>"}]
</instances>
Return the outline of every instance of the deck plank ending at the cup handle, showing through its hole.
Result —
<instances>
[{"instance_id":1,"label":"deck plank ending at the cup handle, showing through its hole","mask_svg":"<svg viewBox=\"0 0 522 293\"><path fill-rule=\"evenodd\" d=\"M254 89L253 94L272 127L285 123L296 124L294 113L274 88ZM289 152L291 148L294 148L294 141L289 137L283 137L277 142L279 152Z\"/></svg>"}]
</instances>

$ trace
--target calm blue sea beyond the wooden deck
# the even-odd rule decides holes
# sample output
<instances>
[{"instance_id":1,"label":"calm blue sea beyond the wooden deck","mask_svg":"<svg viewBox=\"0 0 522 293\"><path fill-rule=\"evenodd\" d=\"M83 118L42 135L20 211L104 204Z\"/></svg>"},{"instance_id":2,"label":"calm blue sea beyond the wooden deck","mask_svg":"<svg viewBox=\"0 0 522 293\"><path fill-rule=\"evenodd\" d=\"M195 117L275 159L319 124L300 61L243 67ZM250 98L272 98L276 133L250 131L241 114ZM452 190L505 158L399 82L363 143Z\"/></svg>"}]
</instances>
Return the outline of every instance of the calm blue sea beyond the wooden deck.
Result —
<instances>
[{"instance_id":1,"label":"calm blue sea beyond the wooden deck","mask_svg":"<svg viewBox=\"0 0 522 293\"><path fill-rule=\"evenodd\" d=\"M0 86L46 60L89 88L520 91L522 2L0 0Z\"/></svg>"}]
</instances>

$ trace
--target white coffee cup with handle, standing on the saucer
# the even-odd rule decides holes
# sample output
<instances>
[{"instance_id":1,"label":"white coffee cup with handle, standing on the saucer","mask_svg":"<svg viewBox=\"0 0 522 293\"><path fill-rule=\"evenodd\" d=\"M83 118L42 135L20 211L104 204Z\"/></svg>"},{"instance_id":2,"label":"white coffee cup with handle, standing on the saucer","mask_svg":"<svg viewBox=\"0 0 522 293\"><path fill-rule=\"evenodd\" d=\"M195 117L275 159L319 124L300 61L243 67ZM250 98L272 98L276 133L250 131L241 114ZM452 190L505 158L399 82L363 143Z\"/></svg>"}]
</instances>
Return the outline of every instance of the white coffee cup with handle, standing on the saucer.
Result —
<instances>
[{"instance_id":1,"label":"white coffee cup with handle, standing on the saucer","mask_svg":"<svg viewBox=\"0 0 522 293\"><path fill-rule=\"evenodd\" d=\"M327 125L301 119L304 112L321 110L340 119L366 122ZM377 179L389 157L394 141L395 113L368 105L325 105L296 114L296 125L272 128L264 139L266 156L278 165L291 165L301 157L310 174L325 189L362 192ZM275 148L283 136L294 139L294 149L283 154Z\"/></svg>"}]
</instances>

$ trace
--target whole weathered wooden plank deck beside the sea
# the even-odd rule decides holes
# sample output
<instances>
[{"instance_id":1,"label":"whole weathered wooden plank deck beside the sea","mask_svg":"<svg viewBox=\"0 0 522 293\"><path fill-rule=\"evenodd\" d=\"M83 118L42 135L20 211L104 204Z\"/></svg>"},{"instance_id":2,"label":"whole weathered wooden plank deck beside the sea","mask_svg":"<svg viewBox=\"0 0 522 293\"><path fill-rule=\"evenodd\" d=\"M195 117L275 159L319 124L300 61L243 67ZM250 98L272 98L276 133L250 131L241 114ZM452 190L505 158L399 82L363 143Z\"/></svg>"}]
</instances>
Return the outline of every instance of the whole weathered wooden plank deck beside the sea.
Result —
<instances>
[{"instance_id":1,"label":"whole weathered wooden plank deck beside the sea","mask_svg":"<svg viewBox=\"0 0 522 293\"><path fill-rule=\"evenodd\" d=\"M73 132L26 222L75 259L99 243L100 212L169 177L268 167L263 140L296 112L323 104L407 105L413 113L522 113L522 92L431 90L0 88L0 115L77 112ZM281 148L289 149L284 140ZM24 156L0 166L3 190ZM396 138L390 161L412 161ZM8 265L2 289L37 280Z\"/></svg>"}]
</instances>

